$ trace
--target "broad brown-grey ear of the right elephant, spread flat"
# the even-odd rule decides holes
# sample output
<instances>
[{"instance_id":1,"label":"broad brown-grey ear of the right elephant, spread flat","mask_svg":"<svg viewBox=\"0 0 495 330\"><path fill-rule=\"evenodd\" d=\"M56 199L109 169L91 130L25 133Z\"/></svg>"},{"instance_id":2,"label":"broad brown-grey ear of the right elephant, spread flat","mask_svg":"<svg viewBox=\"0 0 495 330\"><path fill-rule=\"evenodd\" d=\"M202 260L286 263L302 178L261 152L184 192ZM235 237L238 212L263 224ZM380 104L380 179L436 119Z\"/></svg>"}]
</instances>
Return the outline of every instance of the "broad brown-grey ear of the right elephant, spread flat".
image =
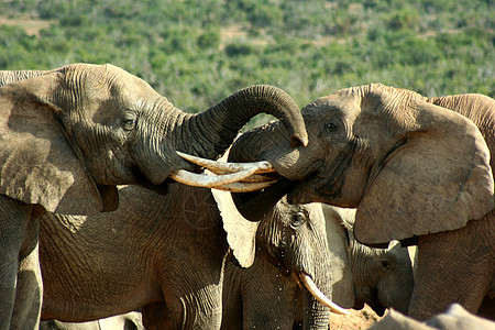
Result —
<instances>
[{"instance_id":1,"label":"broad brown-grey ear of the right elephant, spread flat","mask_svg":"<svg viewBox=\"0 0 495 330\"><path fill-rule=\"evenodd\" d=\"M354 235L367 245L459 229L494 207L490 152L476 125L424 100L408 107L414 129L380 163L358 206Z\"/></svg>"}]
</instances>

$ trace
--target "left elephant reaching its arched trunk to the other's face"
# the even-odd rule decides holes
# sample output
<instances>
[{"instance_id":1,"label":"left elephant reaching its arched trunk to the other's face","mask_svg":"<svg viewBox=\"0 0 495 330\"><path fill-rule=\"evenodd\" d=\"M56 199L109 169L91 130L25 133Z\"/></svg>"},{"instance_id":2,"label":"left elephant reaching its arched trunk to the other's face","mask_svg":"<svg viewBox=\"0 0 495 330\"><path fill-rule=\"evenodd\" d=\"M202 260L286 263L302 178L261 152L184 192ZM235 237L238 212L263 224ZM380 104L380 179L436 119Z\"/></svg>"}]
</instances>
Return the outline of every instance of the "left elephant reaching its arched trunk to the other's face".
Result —
<instances>
[{"instance_id":1,"label":"left elephant reaching its arched trunk to the other's face","mask_svg":"<svg viewBox=\"0 0 495 330\"><path fill-rule=\"evenodd\" d=\"M92 215L117 208L118 184L163 188L170 174L194 169L176 150L216 158L258 112L290 127L293 145L307 142L299 109L270 86L191 116L112 65L1 72L0 81L0 329L36 327L42 285L30 222L45 210Z\"/></svg>"}]
</instances>

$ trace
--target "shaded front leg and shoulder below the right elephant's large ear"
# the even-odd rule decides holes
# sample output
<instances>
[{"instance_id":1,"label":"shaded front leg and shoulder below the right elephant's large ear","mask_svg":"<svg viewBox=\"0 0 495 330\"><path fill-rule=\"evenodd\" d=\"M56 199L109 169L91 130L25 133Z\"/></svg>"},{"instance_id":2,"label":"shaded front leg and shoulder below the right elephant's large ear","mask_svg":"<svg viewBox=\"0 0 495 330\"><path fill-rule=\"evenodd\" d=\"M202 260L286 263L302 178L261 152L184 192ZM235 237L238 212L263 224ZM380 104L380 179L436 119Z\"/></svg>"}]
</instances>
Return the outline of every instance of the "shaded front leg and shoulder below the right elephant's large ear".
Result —
<instances>
[{"instance_id":1,"label":"shaded front leg and shoulder below the right elephant's large ear","mask_svg":"<svg viewBox=\"0 0 495 330\"><path fill-rule=\"evenodd\" d=\"M426 320L454 301L477 311L494 271L487 226L488 219L474 220L459 230L419 238L410 317Z\"/></svg>"}]
</instances>

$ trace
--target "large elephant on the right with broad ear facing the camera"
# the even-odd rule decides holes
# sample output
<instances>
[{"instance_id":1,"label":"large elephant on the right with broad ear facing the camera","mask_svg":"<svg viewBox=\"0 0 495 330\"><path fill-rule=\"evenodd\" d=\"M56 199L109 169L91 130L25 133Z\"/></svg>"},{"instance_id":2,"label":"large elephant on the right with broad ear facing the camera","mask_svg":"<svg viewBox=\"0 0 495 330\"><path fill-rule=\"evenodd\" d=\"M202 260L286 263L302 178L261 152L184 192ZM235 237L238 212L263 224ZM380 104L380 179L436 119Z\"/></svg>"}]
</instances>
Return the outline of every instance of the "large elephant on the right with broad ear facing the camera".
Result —
<instances>
[{"instance_id":1,"label":"large elephant on the right with broad ear facing the camera","mask_svg":"<svg viewBox=\"0 0 495 330\"><path fill-rule=\"evenodd\" d=\"M290 150L271 123L241 136L230 160L270 161L285 178L276 185L292 180L289 202L356 207L361 243L416 241L409 316L425 320L453 301L475 312L495 295L492 98L427 99L372 84L319 98L302 117L306 148ZM237 206L255 219L263 208L251 206L272 202L268 193L238 195Z\"/></svg>"}]
</instances>

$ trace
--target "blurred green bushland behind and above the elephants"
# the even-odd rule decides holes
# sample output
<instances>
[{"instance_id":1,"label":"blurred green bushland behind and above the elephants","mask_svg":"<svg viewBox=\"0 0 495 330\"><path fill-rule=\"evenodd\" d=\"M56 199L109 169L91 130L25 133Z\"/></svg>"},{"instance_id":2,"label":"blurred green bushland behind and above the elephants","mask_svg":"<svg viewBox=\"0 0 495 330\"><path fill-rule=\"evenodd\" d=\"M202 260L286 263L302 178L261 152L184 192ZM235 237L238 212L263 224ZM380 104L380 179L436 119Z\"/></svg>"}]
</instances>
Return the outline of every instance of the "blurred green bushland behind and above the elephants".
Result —
<instances>
[{"instance_id":1,"label":"blurred green bushland behind and above the elephants","mask_svg":"<svg viewBox=\"0 0 495 330\"><path fill-rule=\"evenodd\" d=\"M299 106L383 82L495 97L493 0L0 0L0 69L112 63L198 112L271 84Z\"/></svg>"}]
</instances>

